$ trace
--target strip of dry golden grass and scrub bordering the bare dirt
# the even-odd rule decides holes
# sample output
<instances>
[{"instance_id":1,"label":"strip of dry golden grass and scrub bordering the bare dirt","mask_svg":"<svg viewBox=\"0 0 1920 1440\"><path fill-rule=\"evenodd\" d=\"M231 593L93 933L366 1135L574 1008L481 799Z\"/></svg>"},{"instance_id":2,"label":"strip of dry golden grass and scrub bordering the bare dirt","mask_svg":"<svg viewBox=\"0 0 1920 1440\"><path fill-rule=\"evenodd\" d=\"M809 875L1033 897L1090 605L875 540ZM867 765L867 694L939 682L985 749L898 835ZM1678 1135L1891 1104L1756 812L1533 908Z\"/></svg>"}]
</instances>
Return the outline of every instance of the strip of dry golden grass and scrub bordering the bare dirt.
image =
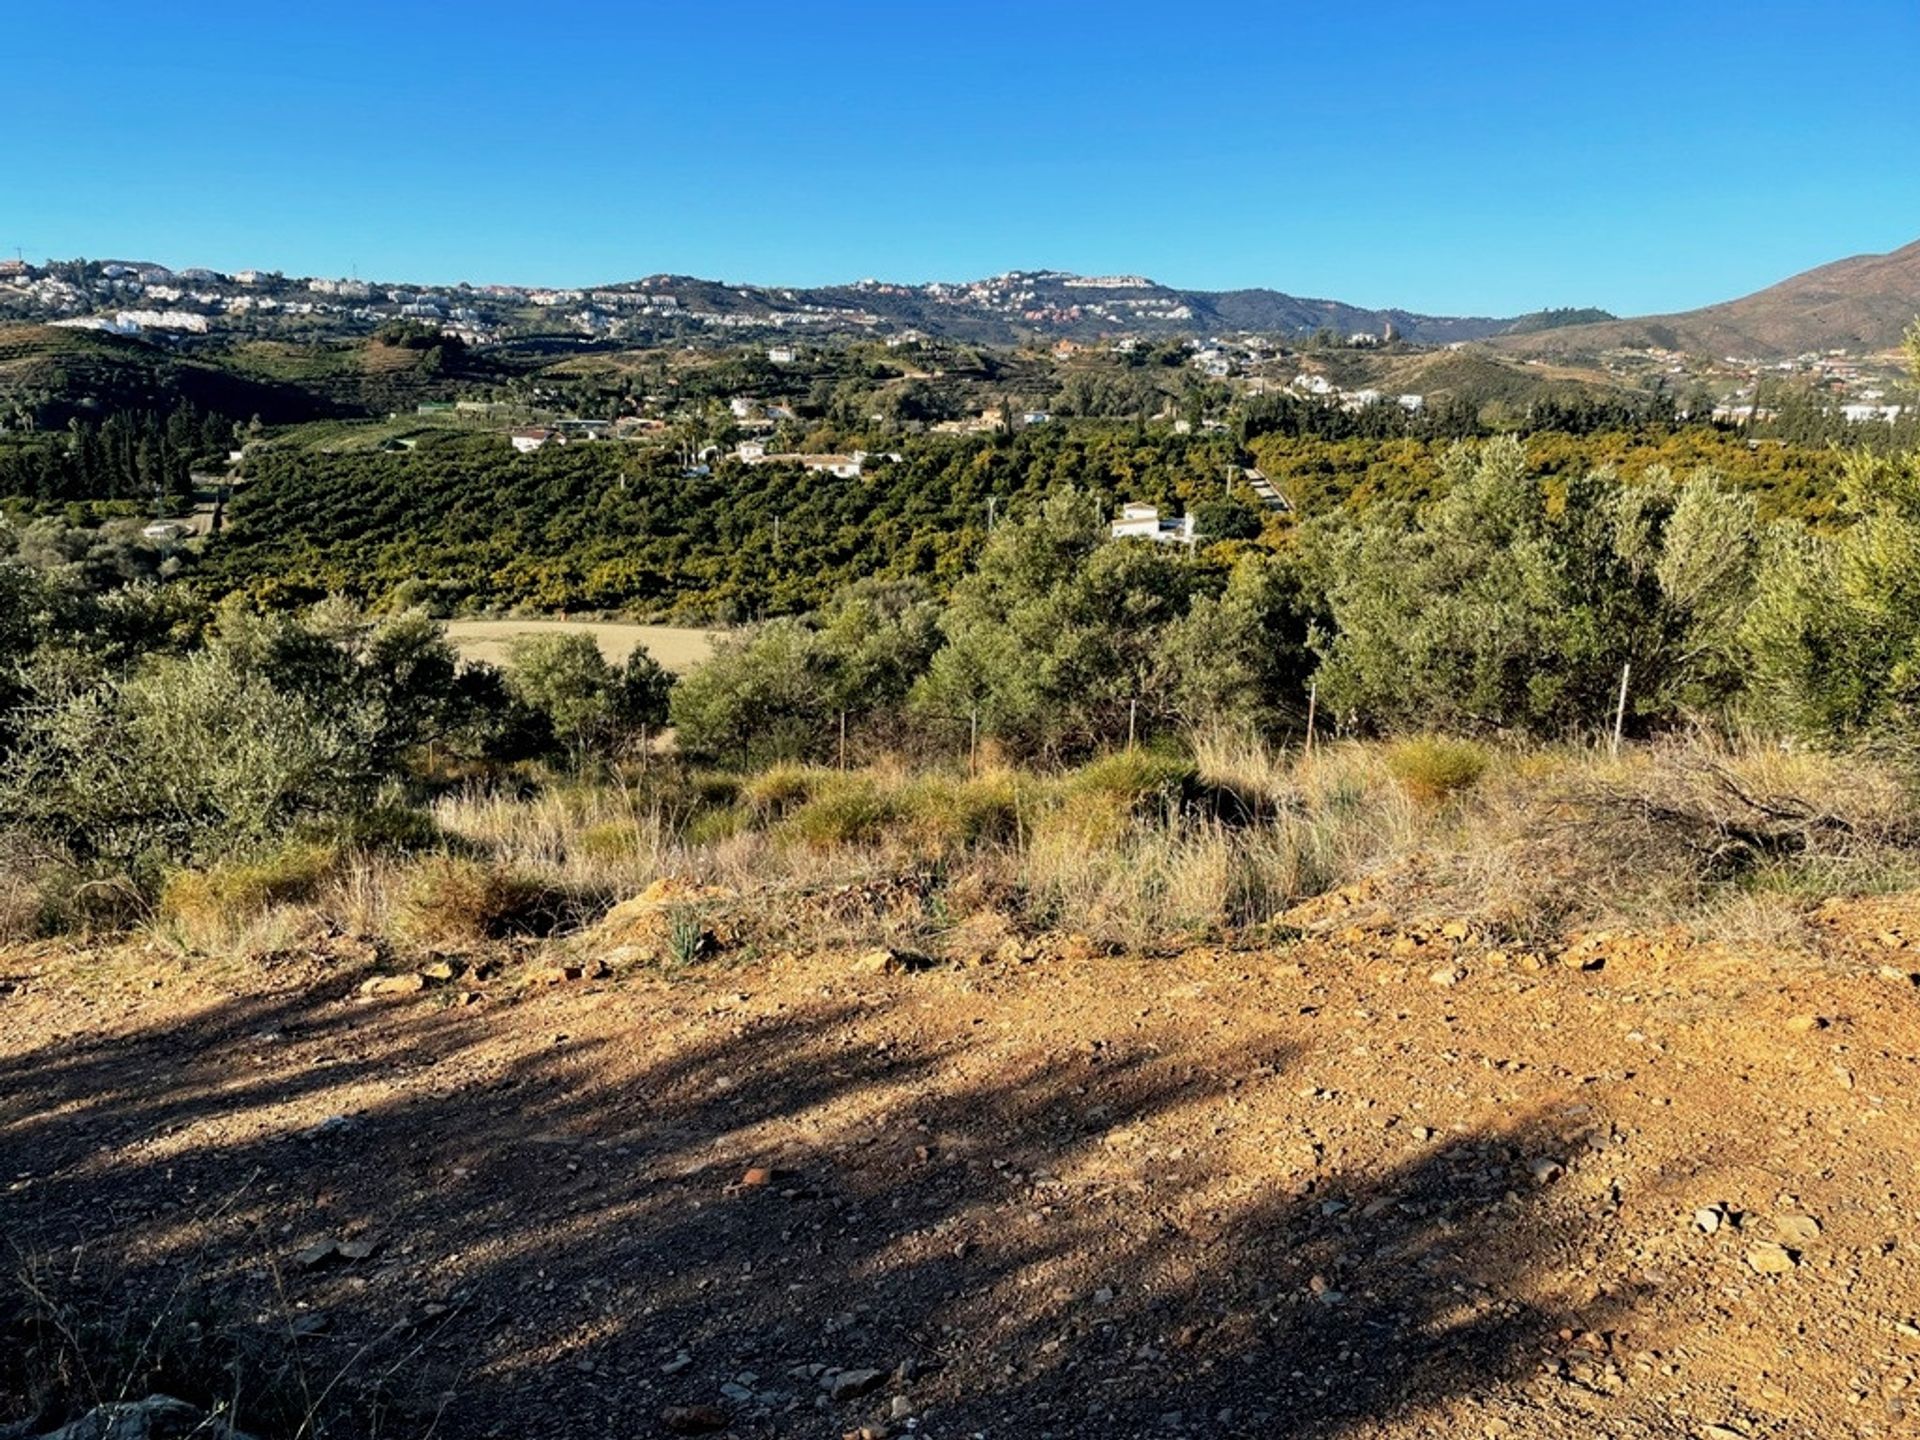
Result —
<instances>
[{"instance_id":1,"label":"strip of dry golden grass and scrub bordering the bare dirt","mask_svg":"<svg viewBox=\"0 0 1920 1440\"><path fill-rule=\"evenodd\" d=\"M701 920L743 954L966 948L983 927L1152 948L1258 933L1365 881L1404 920L1526 943L1620 922L1793 948L1822 899L1920 885L1908 795L1887 764L1699 737L1609 756L1440 741L1300 755L1213 735L1190 756L972 778L659 766L632 785L444 797L428 854L290 849L182 876L163 924L202 948L317 927L480 947L589 929L672 881L726 897ZM0 900L46 904L19 881Z\"/></svg>"}]
</instances>

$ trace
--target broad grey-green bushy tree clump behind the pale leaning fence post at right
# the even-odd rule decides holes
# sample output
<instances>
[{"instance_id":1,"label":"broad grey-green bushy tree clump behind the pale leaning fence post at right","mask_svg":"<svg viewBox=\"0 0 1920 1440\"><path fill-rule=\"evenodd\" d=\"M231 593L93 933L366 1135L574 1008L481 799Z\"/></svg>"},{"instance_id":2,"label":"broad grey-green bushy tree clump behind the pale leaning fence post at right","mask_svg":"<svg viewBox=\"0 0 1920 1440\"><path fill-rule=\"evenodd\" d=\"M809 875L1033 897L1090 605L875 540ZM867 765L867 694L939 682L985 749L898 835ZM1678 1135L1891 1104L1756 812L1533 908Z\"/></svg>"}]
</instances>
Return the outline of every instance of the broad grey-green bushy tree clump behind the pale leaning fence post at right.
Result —
<instances>
[{"instance_id":1,"label":"broad grey-green bushy tree clump behind the pale leaning fence post at right","mask_svg":"<svg viewBox=\"0 0 1920 1440\"><path fill-rule=\"evenodd\" d=\"M1369 516L1325 547L1329 716L1561 735L1611 716L1626 662L1636 728L1738 684L1751 501L1711 474L1596 470L1549 490L1511 436L1455 447L1442 484L1425 513Z\"/></svg>"}]
</instances>

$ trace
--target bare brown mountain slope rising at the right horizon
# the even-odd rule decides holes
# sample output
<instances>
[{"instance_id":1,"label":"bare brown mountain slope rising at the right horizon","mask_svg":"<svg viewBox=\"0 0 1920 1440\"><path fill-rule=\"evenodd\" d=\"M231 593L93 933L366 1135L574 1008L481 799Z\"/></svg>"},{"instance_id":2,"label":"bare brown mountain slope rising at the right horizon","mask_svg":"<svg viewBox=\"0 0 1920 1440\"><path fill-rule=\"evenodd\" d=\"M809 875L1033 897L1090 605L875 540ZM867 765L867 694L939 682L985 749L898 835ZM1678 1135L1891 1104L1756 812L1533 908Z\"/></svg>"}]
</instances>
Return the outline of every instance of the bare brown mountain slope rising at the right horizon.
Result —
<instances>
[{"instance_id":1,"label":"bare brown mountain slope rising at the right horizon","mask_svg":"<svg viewBox=\"0 0 1920 1440\"><path fill-rule=\"evenodd\" d=\"M1574 324L1498 344L1528 355L1647 348L1755 359L1818 349L1864 353L1897 346L1916 313L1920 240L1887 255L1834 261L1705 309Z\"/></svg>"}]
</instances>

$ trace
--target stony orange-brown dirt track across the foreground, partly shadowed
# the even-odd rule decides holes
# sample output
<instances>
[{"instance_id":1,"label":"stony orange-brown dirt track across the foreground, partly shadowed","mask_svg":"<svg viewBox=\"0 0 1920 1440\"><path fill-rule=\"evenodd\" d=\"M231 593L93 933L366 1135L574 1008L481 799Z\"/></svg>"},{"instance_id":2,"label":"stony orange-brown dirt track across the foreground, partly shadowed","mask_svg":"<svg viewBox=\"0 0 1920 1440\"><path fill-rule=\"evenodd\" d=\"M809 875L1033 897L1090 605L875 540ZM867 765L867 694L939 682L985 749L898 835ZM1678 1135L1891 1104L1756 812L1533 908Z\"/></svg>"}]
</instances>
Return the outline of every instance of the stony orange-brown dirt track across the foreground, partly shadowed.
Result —
<instances>
[{"instance_id":1,"label":"stony orange-brown dirt track across the foreground, partly shadowed","mask_svg":"<svg viewBox=\"0 0 1920 1440\"><path fill-rule=\"evenodd\" d=\"M384 1000L10 956L0 1229L292 1315L397 1434L1914 1434L1905 914Z\"/></svg>"}]
</instances>

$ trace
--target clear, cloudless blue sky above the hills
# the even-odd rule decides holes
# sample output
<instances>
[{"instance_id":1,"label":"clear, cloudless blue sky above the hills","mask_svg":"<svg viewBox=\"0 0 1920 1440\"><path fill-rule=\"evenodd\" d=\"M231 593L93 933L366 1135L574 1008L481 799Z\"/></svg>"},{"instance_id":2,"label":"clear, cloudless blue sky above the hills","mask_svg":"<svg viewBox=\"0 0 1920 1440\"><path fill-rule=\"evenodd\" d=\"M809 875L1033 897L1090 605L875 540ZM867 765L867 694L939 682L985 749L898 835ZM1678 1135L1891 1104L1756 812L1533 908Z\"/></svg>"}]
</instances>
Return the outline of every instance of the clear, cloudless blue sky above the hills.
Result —
<instances>
[{"instance_id":1,"label":"clear, cloudless blue sky above the hills","mask_svg":"<svg viewBox=\"0 0 1920 1440\"><path fill-rule=\"evenodd\" d=\"M29 257L1640 313L1920 236L1916 0L58 0L0 75Z\"/></svg>"}]
</instances>

